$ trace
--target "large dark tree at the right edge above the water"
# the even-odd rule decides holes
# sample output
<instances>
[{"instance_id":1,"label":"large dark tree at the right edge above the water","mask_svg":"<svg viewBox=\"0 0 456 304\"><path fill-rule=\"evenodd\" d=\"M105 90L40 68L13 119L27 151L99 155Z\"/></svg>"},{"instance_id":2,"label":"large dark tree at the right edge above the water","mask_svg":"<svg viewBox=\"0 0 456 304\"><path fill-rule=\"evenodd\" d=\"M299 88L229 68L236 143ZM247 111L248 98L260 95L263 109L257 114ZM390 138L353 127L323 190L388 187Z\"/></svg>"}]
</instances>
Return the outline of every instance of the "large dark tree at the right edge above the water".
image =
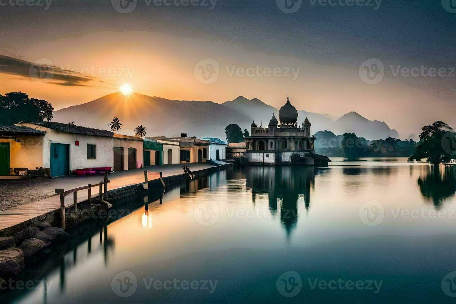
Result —
<instances>
[{"instance_id":1,"label":"large dark tree at the right edge above the water","mask_svg":"<svg viewBox=\"0 0 456 304\"><path fill-rule=\"evenodd\" d=\"M443 121L436 121L432 125L421 128L420 142L411 160L423 158L433 165L446 164L456 159L456 133Z\"/></svg>"}]
</instances>

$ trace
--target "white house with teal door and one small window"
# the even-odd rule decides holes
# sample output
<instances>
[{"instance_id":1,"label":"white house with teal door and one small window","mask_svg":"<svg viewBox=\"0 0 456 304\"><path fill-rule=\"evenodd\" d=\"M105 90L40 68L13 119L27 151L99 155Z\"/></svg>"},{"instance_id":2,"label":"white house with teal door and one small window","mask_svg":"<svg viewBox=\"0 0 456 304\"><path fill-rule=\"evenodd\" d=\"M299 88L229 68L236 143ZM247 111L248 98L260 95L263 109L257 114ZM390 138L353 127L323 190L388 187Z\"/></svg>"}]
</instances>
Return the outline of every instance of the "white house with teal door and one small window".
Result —
<instances>
[{"instance_id":1,"label":"white house with teal door and one small window","mask_svg":"<svg viewBox=\"0 0 456 304\"><path fill-rule=\"evenodd\" d=\"M113 166L112 132L56 122L19 123L16 126L45 132L40 137L40 146L24 146L27 150L24 152L42 158L42 162L34 163L50 168L53 177L69 175L71 170Z\"/></svg>"}]
</instances>

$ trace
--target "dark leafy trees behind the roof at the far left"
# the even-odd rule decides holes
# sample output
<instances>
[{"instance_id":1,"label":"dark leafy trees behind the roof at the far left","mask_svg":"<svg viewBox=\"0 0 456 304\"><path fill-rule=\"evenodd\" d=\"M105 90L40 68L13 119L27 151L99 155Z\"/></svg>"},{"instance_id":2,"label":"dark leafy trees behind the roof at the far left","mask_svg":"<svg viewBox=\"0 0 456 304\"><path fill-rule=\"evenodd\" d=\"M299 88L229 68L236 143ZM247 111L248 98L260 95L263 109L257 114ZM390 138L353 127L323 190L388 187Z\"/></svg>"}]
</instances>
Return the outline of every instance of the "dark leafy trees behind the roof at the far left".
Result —
<instances>
[{"instance_id":1,"label":"dark leafy trees behind the roof at the far left","mask_svg":"<svg viewBox=\"0 0 456 304\"><path fill-rule=\"evenodd\" d=\"M46 100L29 98L26 93L10 92L0 95L0 122L5 125L19 122L34 123L52 119L52 104Z\"/></svg>"}]
</instances>

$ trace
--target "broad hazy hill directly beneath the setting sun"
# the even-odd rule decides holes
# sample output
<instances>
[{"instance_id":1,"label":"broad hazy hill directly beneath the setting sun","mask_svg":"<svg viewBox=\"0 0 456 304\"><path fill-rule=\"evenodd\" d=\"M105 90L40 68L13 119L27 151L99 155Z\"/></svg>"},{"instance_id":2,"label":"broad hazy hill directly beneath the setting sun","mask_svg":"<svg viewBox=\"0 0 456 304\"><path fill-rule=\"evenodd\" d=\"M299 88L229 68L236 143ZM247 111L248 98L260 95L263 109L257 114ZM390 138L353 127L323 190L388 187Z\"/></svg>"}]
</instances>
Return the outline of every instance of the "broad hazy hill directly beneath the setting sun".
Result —
<instances>
[{"instance_id":1,"label":"broad hazy hill directly beneath the setting sun","mask_svg":"<svg viewBox=\"0 0 456 304\"><path fill-rule=\"evenodd\" d=\"M198 138L225 139L228 124L251 124L248 116L210 101L180 101L121 93L55 111L52 120L108 129L114 116L123 124L119 133L129 135L134 134L136 126L143 124L148 136L180 136L186 132L188 136Z\"/></svg>"}]
</instances>

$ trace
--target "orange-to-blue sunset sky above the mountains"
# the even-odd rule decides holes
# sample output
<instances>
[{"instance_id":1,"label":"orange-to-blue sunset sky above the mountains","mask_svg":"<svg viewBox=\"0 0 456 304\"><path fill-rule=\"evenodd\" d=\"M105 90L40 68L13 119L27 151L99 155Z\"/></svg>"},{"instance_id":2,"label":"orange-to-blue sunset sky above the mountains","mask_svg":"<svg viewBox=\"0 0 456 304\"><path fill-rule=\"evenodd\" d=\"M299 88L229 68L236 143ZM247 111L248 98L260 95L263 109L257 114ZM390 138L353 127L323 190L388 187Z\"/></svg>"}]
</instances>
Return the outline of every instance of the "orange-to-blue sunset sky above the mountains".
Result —
<instances>
[{"instance_id":1,"label":"orange-to-blue sunset sky above the mountains","mask_svg":"<svg viewBox=\"0 0 456 304\"><path fill-rule=\"evenodd\" d=\"M56 109L119 92L126 83L135 93L168 99L223 103L242 95L275 107L290 94L300 110L333 117L356 111L400 134L419 133L435 120L456 127L454 78L394 77L390 69L454 66L456 14L440 1L383 1L378 10L303 1L293 14L280 11L275 0L218 0L212 10L138 1L128 14L110 2L54 0L47 10L2 6L0 55L26 62L47 58L78 78L36 82L2 67L0 94L25 91ZM220 66L211 84L194 75L205 58ZM386 67L376 85L358 75L369 58ZM300 72L295 80L232 74L257 66Z\"/></svg>"}]
</instances>

